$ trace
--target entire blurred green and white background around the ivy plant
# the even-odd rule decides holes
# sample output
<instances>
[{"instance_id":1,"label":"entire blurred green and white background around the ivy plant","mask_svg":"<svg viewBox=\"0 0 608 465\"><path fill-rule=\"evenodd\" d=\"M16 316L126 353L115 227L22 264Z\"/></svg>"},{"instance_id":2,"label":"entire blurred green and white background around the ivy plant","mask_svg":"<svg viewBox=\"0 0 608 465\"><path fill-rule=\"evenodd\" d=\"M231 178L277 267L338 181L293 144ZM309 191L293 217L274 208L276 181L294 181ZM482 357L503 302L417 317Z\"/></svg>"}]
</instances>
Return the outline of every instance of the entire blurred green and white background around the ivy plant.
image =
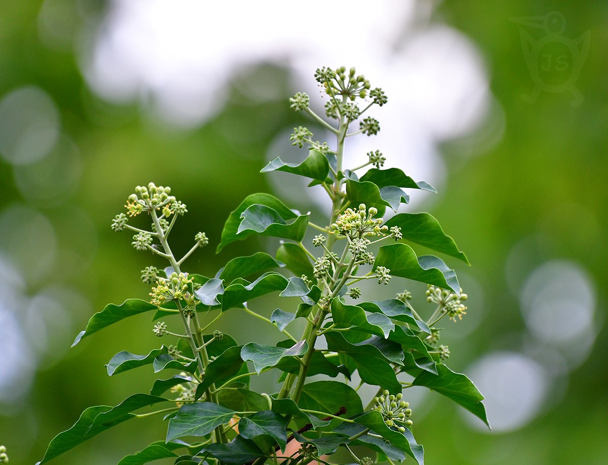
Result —
<instances>
[{"instance_id":1,"label":"entire blurred green and white background around the ivy plant","mask_svg":"<svg viewBox=\"0 0 608 465\"><path fill-rule=\"evenodd\" d=\"M608 463L608 2L348 5L0 1L0 444L11 463L40 460L86 407L149 389L145 369L104 369L120 350L156 347L148 316L69 348L104 305L146 298L139 270L163 266L109 228L134 186L169 185L188 205L176 253L201 229L210 237L188 271L271 250L249 239L214 253L247 194L299 186L259 171L303 157L289 132L315 128L287 99L319 101L314 68L342 64L389 95L373 114L387 166L438 187L409 211L432 212L473 265L446 260L470 298L441 342L486 395L494 431L412 390L427 463ZM535 86L536 100L522 97ZM319 197L302 192L290 205L322 222ZM423 302L424 287L395 281L388 294L407 286ZM263 327L234 312L219 327L260 341ZM55 461L117 463L163 428L128 422Z\"/></svg>"}]
</instances>

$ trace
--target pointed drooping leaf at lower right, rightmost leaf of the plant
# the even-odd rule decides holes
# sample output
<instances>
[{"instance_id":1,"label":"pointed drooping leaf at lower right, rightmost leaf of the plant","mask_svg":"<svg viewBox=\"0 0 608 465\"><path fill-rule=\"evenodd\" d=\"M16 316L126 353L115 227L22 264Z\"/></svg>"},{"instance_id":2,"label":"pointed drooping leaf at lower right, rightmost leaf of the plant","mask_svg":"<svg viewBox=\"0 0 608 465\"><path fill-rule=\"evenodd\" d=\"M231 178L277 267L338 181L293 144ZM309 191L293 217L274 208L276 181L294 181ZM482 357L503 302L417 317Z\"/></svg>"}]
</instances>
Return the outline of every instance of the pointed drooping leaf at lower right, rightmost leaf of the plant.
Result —
<instances>
[{"instance_id":1,"label":"pointed drooping leaf at lower right, rightmost leaf of the plant","mask_svg":"<svg viewBox=\"0 0 608 465\"><path fill-rule=\"evenodd\" d=\"M486 408L483 405L483 396L473 382L461 373L454 373L444 364L437 364L438 375L422 372L412 381L413 386L426 386L429 389L443 394L449 399L469 410L483 423L490 427Z\"/></svg>"}]
</instances>

